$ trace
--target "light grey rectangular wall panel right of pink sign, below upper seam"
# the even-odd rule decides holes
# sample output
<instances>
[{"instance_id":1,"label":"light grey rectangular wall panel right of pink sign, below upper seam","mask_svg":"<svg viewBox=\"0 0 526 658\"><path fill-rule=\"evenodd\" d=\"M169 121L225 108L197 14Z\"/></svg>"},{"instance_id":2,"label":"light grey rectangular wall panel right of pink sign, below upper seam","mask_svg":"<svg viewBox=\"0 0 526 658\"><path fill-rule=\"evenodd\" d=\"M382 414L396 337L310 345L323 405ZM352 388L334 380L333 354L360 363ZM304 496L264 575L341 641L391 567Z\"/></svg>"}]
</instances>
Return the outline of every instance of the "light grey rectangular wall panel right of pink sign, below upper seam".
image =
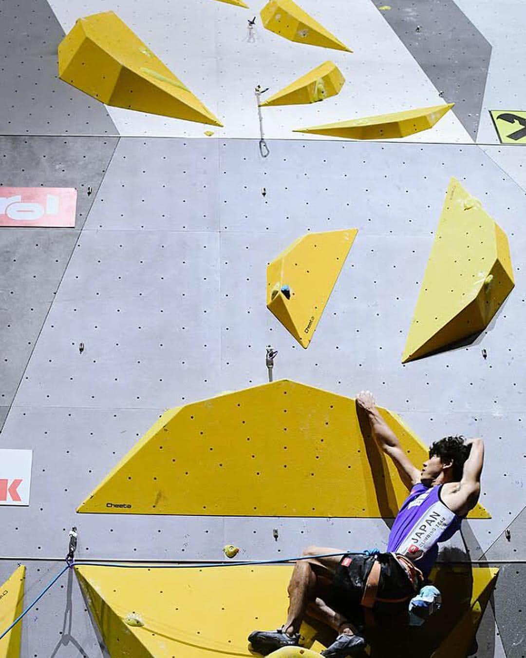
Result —
<instances>
[{"instance_id":1,"label":"light grey rectangular wall panel right of pink sign, below upper seam","mask_svg":"<svg viewBox=\"0 0 526 658\"><path fill-rule=\"evenodd\" d=\"M122 139L86 228L217 231L222 143Z\"/></svg>"}]
</instances>

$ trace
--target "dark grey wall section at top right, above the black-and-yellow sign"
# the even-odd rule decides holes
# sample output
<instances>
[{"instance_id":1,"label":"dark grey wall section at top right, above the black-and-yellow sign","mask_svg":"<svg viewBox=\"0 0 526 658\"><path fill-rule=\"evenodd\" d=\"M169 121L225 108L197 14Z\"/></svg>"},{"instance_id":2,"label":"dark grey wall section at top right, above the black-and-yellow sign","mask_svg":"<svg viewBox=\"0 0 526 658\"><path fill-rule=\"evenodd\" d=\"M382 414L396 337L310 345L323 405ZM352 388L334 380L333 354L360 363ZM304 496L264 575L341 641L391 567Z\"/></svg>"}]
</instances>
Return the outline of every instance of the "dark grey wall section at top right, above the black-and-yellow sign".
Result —
<instances>
[{"instance_id":1,"label":"dark grey wall section at top right, above the black-and-yellow sign","mask_svg":"<svg viewBox=\"0 0 526 658\"><path fill-rule=\"evenodd\" d=\"M487 39L454 0L398 0L380 13L475 139L491 57Z\"/></svg>"}]
</instances>

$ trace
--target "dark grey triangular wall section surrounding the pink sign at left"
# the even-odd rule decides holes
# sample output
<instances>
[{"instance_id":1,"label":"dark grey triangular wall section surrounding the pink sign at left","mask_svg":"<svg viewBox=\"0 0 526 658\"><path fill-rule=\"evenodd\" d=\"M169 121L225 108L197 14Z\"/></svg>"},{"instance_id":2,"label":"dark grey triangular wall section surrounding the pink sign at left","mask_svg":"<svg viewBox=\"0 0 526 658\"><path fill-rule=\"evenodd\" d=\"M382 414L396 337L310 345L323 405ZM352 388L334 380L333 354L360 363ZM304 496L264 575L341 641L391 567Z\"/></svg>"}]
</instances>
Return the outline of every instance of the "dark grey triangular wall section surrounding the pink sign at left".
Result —
<instances>
[{"instance_id":1,"label":"dark grey triangular wall section surrounding the pink sign at left","mask_svg":"<svg viewBox=\"0 0 526 658\"><path fill-rule=\"evenodd\" d=\"M0 186L78 191L75 228L0 227L0 429L117 143L0 138Z\"/></svg>"}]
</instances>

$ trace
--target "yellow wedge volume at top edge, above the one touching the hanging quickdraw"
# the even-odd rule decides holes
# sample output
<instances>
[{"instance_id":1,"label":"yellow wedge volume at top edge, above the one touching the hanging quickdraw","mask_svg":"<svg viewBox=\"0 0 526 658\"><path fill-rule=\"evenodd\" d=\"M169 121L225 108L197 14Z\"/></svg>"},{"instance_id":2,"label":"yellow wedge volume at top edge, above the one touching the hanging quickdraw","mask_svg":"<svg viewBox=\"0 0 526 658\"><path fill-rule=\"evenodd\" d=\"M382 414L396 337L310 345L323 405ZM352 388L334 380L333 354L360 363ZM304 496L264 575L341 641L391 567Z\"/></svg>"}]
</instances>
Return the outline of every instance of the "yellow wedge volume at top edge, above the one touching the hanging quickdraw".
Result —
<instances>
[{"instance_id":1,"label":"yellow wedge volume at top edge, above the one touching the hanging quickdraw","mask_svg":"<svg viewBox=\"0 0 526 658\"><path fill-rule=\"evenodd\" d=\"M325 30L323 25L309 16L293 0L270 0L260 14L267 30L275 32L289 41L352 53L345 43Z\"/></svg>"}]
</instances>

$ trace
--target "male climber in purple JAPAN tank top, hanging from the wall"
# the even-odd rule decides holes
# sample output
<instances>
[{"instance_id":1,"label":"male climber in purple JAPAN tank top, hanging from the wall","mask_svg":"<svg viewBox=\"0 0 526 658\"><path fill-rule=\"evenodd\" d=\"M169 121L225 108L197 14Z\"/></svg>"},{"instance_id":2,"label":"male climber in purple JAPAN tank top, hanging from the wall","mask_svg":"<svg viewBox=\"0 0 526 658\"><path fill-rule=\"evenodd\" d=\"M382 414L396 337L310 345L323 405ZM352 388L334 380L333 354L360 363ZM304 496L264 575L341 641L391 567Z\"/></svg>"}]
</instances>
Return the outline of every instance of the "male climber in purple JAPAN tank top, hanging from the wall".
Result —
<instances>
[{"instance_id":1,"label":"male climber in purple JAPAN tank top, hanging from the wall","mask_svg":"<svg viewBox=\"0 0 526 658\"><path fill-rule=\"evenodd\" d=\"M345 658L360 653L366 642L358 630L362 632L375 617L397 619L396 615L407 611L408 602L419 593L437 559L439 542L460 529L462 519L479 499L484 459L481 439L443 438L431 445L429 459L418 470L381 417L371 393L359 393L356 404L368 417L378 447L393 460L410 490L389 533L387 552L309 557L343 551L318 546L305 549L306 559L297 561L289 583L287 620L278 630L256 630L249 636L258 653L267 655L280 647L299 645L306 613L338 634L322 651L323 656Z\"/></svg>"}]
</instances>

